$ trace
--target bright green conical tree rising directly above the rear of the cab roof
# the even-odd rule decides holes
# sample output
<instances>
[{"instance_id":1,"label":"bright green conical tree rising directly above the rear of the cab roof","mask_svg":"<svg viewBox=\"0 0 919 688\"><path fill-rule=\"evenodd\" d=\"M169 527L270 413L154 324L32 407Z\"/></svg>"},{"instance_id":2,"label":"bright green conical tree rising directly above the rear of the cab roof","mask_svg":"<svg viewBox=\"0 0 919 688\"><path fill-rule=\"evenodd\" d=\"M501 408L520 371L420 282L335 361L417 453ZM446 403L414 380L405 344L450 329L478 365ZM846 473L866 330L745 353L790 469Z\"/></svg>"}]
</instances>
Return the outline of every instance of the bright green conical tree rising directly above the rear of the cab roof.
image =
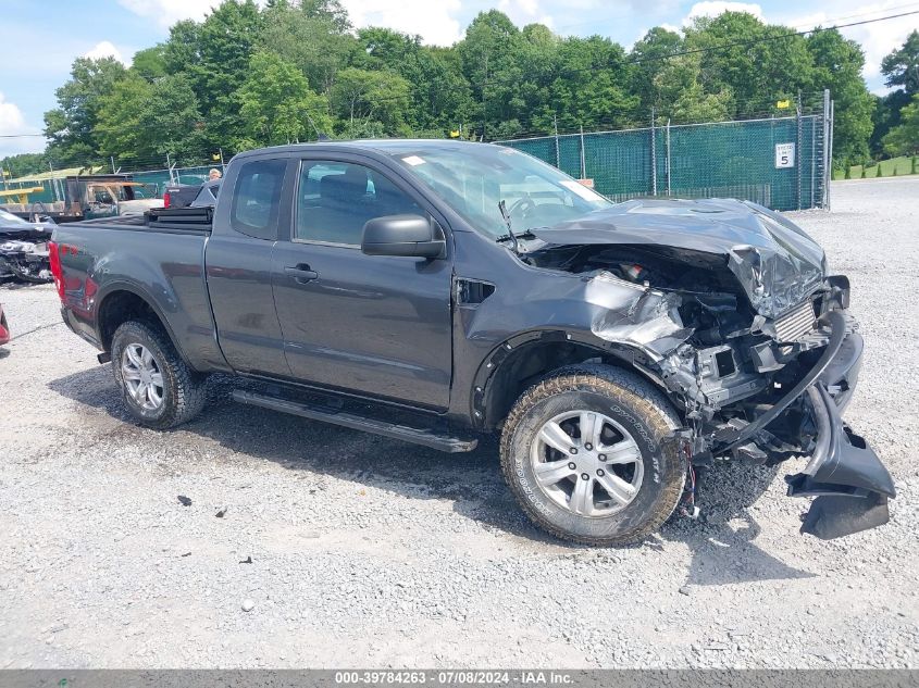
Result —
<instances>
[{"instance_id":1,"label":"bright green conical tree rising directly above the rear of the cab roof","mask_svg":"<svg viewBox=\"0 0 919 688\"><path fill-rule=\"evenodd\" d=\"M237 148L315 140L332 132L328 103L310 90L303 73L276 54L252 55L239 89L245 137Z\"/></svg>"}]
</instances>

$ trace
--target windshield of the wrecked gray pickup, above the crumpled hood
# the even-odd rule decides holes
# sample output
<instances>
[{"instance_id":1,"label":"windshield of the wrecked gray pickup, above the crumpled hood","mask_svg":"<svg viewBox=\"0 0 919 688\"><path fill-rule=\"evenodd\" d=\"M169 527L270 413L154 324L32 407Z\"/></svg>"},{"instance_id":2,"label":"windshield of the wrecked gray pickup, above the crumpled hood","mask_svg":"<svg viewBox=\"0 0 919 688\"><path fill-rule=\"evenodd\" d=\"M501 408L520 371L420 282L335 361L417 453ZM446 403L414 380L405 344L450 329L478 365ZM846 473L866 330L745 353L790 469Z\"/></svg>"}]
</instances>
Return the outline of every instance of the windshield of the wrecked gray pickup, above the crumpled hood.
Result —
<instances>
[{"instance_id":1,"label":"windshield of the wrecked gray pickup, above the crumpled hood","mask_svg":"<svg viewBox=\"0 0 919 688\"><path fill-rule=\"evenodd\" d=\"M506 236L504 200L514 234L550 227L611 203L555 167L489 143L445 147L412 141L387 151L477 232Z\"/></svg>"}]
</instances>

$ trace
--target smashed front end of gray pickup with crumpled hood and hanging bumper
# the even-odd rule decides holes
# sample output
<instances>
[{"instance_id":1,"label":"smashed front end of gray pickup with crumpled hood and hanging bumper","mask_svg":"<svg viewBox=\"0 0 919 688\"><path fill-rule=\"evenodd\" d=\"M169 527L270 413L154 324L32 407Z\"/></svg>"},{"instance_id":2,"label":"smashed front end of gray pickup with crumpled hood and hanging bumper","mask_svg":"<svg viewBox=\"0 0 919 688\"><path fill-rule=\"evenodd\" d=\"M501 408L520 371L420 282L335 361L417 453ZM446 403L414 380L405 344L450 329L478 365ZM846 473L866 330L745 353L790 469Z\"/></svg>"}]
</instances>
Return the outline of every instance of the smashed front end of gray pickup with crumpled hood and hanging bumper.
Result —
<instances>
[{"instance_id":1,"label":"smashed front end of gray pickup with crumpled hood and hanging bumper","mask_svg":"<svg viewBox=\"0 0 919 688\"><path fill-rule=\"evenodd\" d=\"M806 234L737 201L633 201L534 234L524 260L589 277L593 334L641 350L634 365L681 408L691 470L809 456L786 477L816 497L802 533L887 522L893 480L842 420L864 348L848 280ZM613 283L639 291L625 312L603 308Z\"/></svg>"}]
</instances>

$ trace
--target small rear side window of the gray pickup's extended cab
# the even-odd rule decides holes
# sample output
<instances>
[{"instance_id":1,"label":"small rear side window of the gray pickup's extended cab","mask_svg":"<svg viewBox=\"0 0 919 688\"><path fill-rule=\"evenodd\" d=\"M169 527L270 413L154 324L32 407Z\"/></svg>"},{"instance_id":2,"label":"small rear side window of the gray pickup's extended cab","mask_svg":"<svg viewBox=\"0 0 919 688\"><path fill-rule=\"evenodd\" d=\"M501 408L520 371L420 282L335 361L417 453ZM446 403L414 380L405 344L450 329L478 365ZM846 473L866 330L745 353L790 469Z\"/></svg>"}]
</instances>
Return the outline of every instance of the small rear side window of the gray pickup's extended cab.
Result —
<instances>
[{"instance_id":1,"label":"small rear side window of the gray pickup's extended cab","mask_svg":"<svg viewBox=\"0 0 919 688\"><path fill-rule=\"evenodd\" d=\"M253 160L243 164L229 209L229 225L257 239L277 238L277 211L286 160Z\"/></svg>"}]
</instances>

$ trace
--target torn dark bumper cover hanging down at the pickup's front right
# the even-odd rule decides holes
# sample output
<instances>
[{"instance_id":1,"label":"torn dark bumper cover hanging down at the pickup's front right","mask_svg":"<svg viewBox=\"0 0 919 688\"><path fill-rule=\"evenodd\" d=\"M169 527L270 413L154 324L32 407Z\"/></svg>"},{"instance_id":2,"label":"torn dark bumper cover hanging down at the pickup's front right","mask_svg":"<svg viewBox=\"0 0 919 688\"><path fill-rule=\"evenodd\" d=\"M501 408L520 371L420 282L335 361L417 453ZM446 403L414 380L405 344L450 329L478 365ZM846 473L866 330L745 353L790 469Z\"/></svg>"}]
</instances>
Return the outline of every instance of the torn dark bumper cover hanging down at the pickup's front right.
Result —
<instances>
[{"instance_id":1,"label":"torn dark bumper cover hanging down at the pickup's front right","mask_svg":"<svg viewBox=\"0 0 919 688\"><path fill-rule=\"evenodd\" d=\"M817 441L804 472L785 477L788 496L817 497L800 531L824 540L887 523L887 499L896 497L893 478L878 454L841 416L861 367L861 337L850 334L807 388Z\"/></svg>"}]
</instances>

